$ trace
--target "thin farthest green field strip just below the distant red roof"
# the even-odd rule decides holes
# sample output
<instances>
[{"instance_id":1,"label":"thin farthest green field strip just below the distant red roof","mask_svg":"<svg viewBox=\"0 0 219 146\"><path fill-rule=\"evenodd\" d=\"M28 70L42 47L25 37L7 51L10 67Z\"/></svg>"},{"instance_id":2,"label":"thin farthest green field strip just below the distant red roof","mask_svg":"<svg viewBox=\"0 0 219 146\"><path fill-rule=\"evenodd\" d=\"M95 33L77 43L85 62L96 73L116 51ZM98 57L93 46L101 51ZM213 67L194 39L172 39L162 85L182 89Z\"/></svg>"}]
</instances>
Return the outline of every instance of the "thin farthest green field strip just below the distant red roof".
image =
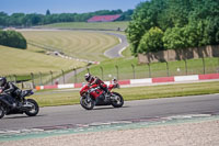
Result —
<instances>
[{"instance_id":1,"label":"thin farthest green field strip just below the distant red roof","mask_svg":"<svg viewBox=\"0 0 219 146\"><path fill-rule=\"evenodd\" d=\"M95 23L87 23L87 22L69 22L69 23L54 23L48 25L43 25L41 27L56 27L56 29L89 29L89 30L111 30L117 31L118 27L120 31L126 30L128 26L128 22L95 22ZM37 26L38 27L38 26Z\"/></svg>"}]
</instances>

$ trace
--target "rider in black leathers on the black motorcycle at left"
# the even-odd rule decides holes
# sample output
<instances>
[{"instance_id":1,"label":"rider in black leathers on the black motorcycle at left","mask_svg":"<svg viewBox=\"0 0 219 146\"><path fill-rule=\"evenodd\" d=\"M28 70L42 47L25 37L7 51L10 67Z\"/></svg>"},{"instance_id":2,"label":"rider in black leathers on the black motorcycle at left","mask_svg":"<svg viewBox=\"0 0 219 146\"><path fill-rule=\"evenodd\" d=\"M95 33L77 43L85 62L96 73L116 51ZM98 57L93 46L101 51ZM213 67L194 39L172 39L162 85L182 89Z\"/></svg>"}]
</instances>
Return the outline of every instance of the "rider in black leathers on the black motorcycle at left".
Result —
<instances>
[{"instance_id":1,"label":"rider in black leathers on the black motorcycle at left","mask_svg":"<svg viewBox=\"0 0 219 146\"><path fill-rule=\"evenodd\" d=\"M7 99L9 101L8 104L11 108L15 108L16 106L15 100L16 99L21 100L20 98L21 98L22 90L19 89L12 82L7 81L5 77L0 77L0 89L1 89L1 92L3 92L4 96L7 97Z\"/></svg>"}]
</instances>

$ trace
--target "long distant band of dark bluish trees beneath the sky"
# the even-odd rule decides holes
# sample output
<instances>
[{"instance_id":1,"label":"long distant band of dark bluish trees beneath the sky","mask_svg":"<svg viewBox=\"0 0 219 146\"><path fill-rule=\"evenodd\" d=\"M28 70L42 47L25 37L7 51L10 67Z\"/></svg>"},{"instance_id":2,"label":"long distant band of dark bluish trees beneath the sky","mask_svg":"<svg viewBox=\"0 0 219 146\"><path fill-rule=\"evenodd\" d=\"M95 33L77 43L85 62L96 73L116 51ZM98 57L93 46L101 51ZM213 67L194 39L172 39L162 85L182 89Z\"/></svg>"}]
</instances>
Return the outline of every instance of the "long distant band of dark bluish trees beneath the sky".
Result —
<instances>
[{"instance_id":1,"label":"long distant band of dark bluish trees beneath the sky","mask_svg":"<svg viewBox=\"0 0 219 146\"><path fill-rule=\"evenodd\" d=\"M0 12L0 26L33 26L33 25L43 25L58 22L87 22L88 19L93 15L106 15L106 14L122 14L119 21L129 21L132 14L132 10L122 11L118 10L100 10L90 13L50 13L49 10L46 11L46 14L37 13L13 13L8 15L4 12Z\"/></svg>"}]
</instances>

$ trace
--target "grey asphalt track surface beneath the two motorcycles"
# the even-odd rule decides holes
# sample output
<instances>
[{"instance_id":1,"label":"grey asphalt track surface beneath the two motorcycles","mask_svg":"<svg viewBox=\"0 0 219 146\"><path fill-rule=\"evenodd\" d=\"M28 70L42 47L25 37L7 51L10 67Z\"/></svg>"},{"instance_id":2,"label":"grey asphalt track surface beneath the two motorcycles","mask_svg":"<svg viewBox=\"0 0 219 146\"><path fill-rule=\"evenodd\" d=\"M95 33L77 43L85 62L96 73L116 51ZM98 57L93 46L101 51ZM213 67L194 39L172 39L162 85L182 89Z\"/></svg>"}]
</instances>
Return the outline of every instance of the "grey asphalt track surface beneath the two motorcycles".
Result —
<instances>
[{"instance_id":1,"label":"grey asphalt track surface beneath the two motorcycles","mask_svg":"<svg viewBox=\"0 0 219 146\"><path fill-rule=\"evenodd\" d=\"M41 108L37 116L7 115L0 131L45 128L65 125L134 121L186 114L219 114L219 94L125 101L123 108L95 106L87 111L77 105Z\"/></svg>"}]
</instances>

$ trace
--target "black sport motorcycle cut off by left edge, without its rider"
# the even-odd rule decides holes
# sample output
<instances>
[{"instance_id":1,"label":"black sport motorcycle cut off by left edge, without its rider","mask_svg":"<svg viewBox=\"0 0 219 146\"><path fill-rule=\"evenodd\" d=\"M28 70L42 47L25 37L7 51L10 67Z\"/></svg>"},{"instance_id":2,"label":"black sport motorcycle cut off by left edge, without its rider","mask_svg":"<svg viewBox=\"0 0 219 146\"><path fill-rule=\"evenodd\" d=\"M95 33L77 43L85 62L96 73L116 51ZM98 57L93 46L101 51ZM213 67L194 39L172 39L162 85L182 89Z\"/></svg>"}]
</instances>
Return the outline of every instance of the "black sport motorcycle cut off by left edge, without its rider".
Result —
<instances>
[{"instance_id":1,"label":"black sport motorcycle cut off by left edge, without its rider","mask_svg":"<svg viewBox=\"0 0 219 146\"><path fill-rule=\"evenodd\" d=\"M21 91L20 98L14 98L13 102L9 101L8 94L0 89L0 119L9 114L23 114L35 116L38 111L38 104L33 99L25 99L34 94L32 90Z\"/></svg>"}]
</instances>

